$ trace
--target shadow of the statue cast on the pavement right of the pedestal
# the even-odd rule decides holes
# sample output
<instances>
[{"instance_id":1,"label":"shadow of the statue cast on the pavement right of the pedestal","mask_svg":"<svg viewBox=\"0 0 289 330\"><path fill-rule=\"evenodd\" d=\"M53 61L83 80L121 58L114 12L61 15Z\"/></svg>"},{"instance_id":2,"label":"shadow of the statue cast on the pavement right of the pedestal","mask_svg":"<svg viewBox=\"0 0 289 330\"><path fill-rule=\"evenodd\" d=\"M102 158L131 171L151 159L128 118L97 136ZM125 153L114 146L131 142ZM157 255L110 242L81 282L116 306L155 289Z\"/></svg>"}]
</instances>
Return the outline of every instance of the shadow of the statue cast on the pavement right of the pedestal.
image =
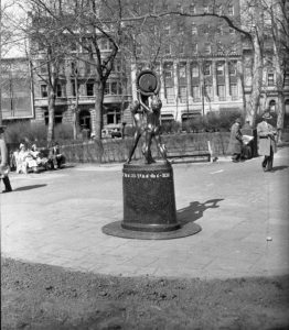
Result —
<instances>
[{"instance_id":1,"label":"shadow of the statue cast on the pavement right of the pedestal","mask_svg":"<svg viewBox=\"0 0 289 330\"><path fill-rule=\"evenodd\" d=\"M224 199L210 199L205 202L192 201L189 207L176 211L178 221L183 224L196 221L203 217L205 210L218 208L217 204L222 200Z\"/></svg>"}]
</instances>

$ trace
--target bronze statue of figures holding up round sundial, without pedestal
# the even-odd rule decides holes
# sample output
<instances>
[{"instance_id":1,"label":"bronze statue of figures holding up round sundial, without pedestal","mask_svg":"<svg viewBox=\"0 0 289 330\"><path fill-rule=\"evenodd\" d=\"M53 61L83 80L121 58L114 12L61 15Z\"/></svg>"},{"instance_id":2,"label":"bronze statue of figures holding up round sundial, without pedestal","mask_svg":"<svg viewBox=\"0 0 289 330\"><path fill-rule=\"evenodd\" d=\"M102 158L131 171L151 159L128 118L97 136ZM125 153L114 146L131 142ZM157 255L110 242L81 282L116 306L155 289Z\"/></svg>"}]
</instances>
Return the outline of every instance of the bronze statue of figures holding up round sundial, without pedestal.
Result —
<instances>
[{"instance_id":1,"label":"bronze statue of figures holding up round sundial, without pedestal","mask_svg":"<svg viewBox=\"0 0 289 330\"><path fill-rule=\"evenodd\" d=\"M131 162L131 157L136 151L140 136L144 133L144 143L142 154L146 164L156 163L151 155L151 142L156 141L158 151L165 162L165 145L161 142L160 136L160 116L162 102L159 98L160 82L157 75L151 70L143 70L137 78L138 95L137 100L130 105L131 114L133 117L136 132L133 135L133 144L129 152L127 164Z\"/></svg>"}]
</instances>

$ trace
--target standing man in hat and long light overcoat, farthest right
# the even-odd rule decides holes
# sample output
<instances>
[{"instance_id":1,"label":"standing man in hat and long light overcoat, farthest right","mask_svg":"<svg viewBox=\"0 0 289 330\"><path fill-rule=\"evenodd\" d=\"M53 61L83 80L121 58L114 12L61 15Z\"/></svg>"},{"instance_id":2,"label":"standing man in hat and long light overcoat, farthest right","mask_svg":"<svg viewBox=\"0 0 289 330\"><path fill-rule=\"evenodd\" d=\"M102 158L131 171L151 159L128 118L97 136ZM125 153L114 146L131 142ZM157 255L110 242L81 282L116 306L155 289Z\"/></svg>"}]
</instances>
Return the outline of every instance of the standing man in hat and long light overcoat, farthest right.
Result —
<instances>
[{"instance_id":1,"label":"standing man in hat and long light overcoat, farthest right","mask_svg":"<svg viewBox=\"0 0 289 330\"><path fill-rule=\"evenodd\" d=\"M274 153L277 151L276 146L276 130L269 120L272 119L270 112L267 110L263 114L263 121L257 125L257 134L259 138L258 153L260 156L265 156L261 163L264 172L272 170Z\"/></svg>"}]
</instances>

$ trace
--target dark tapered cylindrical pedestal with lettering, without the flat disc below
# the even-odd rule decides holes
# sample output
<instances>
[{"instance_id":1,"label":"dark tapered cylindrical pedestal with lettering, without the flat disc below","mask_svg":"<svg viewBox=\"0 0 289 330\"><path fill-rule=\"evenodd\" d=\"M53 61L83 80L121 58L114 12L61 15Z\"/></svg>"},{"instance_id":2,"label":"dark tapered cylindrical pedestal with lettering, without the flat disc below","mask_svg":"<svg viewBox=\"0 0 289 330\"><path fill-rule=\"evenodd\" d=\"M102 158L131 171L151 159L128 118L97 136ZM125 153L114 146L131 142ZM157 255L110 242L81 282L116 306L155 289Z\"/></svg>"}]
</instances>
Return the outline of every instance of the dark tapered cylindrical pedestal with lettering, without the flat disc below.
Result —
<instances>
[{"instance_id":1,"label":"dark tapered cylindrical pedestal with lettering, without the flat disc below","mask_svg":"<svg viewBox=\"0 0 289 330\"><path fill-rule=\"evenodd\" d=\"M122 228L148 232L180 229L169 163L125 164L122 174Z\"/></svg>"}]
</instances>

